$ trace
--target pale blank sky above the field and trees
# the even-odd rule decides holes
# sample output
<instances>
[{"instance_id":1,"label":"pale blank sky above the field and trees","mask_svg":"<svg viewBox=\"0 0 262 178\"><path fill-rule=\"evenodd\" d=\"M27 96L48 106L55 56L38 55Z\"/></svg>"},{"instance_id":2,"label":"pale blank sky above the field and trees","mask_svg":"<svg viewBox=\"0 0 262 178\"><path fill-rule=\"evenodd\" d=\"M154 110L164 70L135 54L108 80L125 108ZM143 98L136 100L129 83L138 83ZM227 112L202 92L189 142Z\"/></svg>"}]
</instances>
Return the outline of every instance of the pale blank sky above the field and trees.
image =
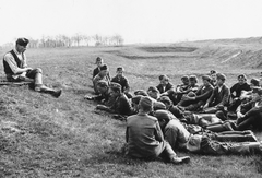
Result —
<instances>
[{"instance_id":1,"label":"pale blank sky above the field and trees","mask_svg":"<svg viewBox=\"0 0 262 178\"><path fill-rule=\"evenodd\" d=\"M262 36L261 0L0 0L0 45L115 35L124 44Z\"/></svg>"}]
</instances>

